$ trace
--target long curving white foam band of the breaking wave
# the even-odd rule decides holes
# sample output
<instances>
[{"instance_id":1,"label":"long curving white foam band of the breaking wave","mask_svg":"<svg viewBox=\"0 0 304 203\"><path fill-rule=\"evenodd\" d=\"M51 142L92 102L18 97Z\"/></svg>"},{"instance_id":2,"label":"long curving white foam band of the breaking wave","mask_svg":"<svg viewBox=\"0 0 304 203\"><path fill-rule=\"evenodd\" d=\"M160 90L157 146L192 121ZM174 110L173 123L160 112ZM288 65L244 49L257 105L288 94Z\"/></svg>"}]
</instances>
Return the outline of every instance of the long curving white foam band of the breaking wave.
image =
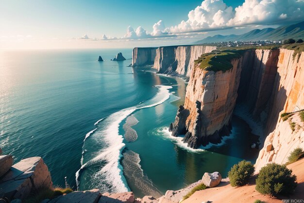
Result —
<instances>
[{"instance_id":1,"label":"long curving white foam band of the breaking wave","mask_svg":"<svg viewBox=\"0 0 304 203\"><path fill-rule=\"evenodd\" d=\"M94 131L90 131L89 135L84 140L88 138L94 139L96 142L105 143L106 146L97 153L91 154L92 156L94 155L94 157L92 157L88 162L81 163L81 168L76 172L77 188L79 188L81 184L80 177L82 175L82 171L90 166L100 164L101 169L96 171L90 177L91 180L89 181L91 182L92 187L100 188L101 192L108 191L114 193L130 191L130 188L123 176L122 166L119 162L122 157L121 152L125 147L123 137L122 135L119 135L119 124L134 111L157 106L169 99L169 89L172 88L171 86L159 85L155 87L159 90L152 99L138 104L135 107L115 112L95 123L96 125L99 122L102 122L102 126ZM85 149L83 149L83 151L84 150ZM82 157L82 162L83 160L84 158Z\"/></svg>"}]
</instances>

